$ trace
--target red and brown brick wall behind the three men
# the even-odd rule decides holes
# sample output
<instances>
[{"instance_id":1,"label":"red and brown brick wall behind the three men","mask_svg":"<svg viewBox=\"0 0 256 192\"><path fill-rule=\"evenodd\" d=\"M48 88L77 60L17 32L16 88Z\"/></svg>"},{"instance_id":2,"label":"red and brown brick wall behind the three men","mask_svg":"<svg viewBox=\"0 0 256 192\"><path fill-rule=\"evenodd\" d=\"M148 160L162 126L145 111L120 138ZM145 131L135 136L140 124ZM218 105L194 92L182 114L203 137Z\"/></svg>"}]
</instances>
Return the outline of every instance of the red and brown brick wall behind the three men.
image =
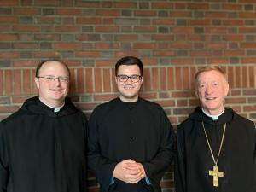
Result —
<instances>
[{"instance_id":1,"label":"red and brown brick wall behind the three men","mask_svg":"<svg viewBox=\"0 0 256 192\"><path fill-rule=\"evenodd\" d=\"M70 96L90 115L117 96L113 65L124 55L145 64L141 96L159 102L173 125L198 104L195 71L228 73L226 105L256 123L254 0L1 0L0 119L36 95L38 61L67 61ZM98 191L89 173L90 192ZM172 166L161 183L173 191Z\"/></svg>"}]
</instances>

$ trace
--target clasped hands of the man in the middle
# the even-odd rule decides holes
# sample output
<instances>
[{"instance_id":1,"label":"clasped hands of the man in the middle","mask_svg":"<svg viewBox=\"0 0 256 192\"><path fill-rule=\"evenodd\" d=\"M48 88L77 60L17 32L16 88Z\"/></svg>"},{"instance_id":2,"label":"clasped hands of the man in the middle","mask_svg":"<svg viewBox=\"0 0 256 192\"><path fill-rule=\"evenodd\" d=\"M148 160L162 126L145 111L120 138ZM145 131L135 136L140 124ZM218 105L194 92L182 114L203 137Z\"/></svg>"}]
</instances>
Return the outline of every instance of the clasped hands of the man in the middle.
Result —
<instances>
[{"instance_id":1,"label":"clasped hands of the man in the middle","mask_svg":"<svg viewBox=\"0 0 256 192\"><path fill-rule=\"evenodd\" d=\"M113 177L125 183L137 183L146 177L146 173L141 163L134 160L123 160L115 166Z\"/></svg>"}]
</instances>

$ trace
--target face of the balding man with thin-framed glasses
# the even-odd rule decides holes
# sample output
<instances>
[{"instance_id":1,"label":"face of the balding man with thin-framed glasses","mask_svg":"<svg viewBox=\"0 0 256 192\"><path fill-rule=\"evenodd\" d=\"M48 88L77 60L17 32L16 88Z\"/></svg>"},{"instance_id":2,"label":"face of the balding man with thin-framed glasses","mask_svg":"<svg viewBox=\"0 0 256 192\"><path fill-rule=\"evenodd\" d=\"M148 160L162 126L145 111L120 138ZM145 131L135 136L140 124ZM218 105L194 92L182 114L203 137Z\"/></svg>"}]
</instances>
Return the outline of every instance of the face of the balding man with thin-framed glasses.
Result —
<instances>
[{"instance_id":1,"label":"face of the balding man with thin-framed glasses","mask_svg":"<svg viewBox=\"0 0 256 192\"><path fill-rule=\"evenodd\" d=\"M50 107L61 107L65 102L68 93L69 81L61 82L57 78L68 78L68 71L63 64L58 61L47 61L39 70L39 77L54 76L55 80L35 78L35 83L39 90L39 99Z\"/></svg>"}]
</instances>

